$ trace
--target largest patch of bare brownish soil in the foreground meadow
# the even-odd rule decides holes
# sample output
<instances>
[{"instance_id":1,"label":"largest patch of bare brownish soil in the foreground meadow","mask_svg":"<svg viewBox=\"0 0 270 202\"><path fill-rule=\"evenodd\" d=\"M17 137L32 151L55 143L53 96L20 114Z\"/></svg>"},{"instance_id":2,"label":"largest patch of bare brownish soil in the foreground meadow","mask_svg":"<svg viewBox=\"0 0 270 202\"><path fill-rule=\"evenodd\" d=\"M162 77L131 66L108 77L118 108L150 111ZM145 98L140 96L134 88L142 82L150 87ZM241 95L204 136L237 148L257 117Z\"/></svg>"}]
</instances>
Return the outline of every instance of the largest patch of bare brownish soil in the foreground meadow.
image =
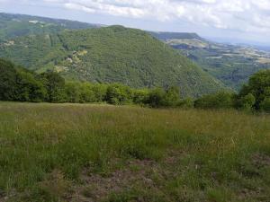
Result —
<instances>
[{"instance_id":1,"label":"largest patch of bare brownish soil in the foreground meadow","mask_svg":"<svg viewBox=\"0 0 270 202\"><path fill-rule=\"evenodd\" d=\"M156 185L150 173L157 170L160 171L157 162L149 160L127 162L125 169L114 171L107 177L85 170L80 177L83 184L76 188L72 201L102 201L112 192L121 192L123 189L131 189L135 186L155 189Z\"/></svg>"}]
</instances>

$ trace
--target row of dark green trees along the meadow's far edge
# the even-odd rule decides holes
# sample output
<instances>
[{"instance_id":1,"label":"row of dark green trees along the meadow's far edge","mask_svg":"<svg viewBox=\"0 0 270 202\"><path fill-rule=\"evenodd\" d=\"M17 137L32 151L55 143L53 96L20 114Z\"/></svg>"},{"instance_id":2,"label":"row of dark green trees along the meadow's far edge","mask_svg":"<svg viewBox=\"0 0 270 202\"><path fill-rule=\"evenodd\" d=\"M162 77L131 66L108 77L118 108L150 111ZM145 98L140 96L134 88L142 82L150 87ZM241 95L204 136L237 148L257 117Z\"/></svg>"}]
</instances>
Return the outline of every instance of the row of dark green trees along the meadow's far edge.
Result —
<instances>
[{"instance_id":1,"label":"row of dark green trees along the meadow's far edge","mask_svg":"<svg viewBox=\"0 0 270 202\"><path fill-rule=\"evenodd\" d=\"M252 75L240 92L217 92L198 99L180 96L175 86L134 89L121 83L71 82L56 72L37 74L0 59L0 100L31 102L107 102L160 107L260 110L270 112L270 70Z\"/></svg>"}]
</instances>

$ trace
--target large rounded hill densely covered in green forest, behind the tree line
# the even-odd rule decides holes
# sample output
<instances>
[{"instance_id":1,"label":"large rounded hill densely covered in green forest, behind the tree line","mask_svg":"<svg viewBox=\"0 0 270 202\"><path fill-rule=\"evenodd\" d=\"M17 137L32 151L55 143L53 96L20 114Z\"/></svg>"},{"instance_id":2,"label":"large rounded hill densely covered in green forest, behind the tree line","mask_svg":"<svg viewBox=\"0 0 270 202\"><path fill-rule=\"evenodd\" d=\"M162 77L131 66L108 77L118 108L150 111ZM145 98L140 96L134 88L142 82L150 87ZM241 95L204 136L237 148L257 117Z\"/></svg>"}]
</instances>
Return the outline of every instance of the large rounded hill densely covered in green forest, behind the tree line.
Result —
<instances>
[{"instance_id":1,"label":"large rounded hill densely covered in green forest, behind the tree line","mask_svg":"<svg viewBox=\"0 0 270 202\"><path fill-rule=\"evenodd\" d=\"M131 87L178 85L186 96L224 88L148 32L121 26L15 38L0 45L0 57L38 72L55 69L67 79Z\"/></svg>"}]
</instances>

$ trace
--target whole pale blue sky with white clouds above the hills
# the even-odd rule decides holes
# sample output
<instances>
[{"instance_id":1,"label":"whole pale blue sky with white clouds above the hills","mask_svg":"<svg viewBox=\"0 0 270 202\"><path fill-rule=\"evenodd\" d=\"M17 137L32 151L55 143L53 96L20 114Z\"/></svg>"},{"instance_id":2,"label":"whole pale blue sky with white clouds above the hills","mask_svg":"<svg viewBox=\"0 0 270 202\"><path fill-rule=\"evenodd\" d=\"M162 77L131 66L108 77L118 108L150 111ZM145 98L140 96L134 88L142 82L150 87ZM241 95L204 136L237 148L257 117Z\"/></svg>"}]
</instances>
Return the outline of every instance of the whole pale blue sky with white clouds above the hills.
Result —
<instances>
[{"instance_id":1,"label":"whole pale blue sky with white clouds above the hills","mask_svg":"<svg viewBox=\"0 0 270 202\"><path fill-rule=\"evenodd\" d=\"M270 45L270 0L0 0L0 12Z\"/></svg>"}]
</instances>

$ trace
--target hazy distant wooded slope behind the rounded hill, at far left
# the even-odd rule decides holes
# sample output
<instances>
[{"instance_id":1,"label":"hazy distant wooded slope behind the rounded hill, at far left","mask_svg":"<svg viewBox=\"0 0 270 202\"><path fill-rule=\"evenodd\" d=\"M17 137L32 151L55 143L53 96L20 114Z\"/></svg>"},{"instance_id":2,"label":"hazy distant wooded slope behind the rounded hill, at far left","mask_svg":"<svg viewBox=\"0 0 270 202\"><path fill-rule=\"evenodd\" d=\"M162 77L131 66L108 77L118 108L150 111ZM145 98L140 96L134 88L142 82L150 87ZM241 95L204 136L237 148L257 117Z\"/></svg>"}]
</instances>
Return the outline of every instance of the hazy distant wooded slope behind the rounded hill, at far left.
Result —
<instances>
[{"instance_id":1,"label":"hazy distant wooded slope behind the rounded hill, at far left","mask_svg":"<svg viewBox=\"0 0 270 202\"><path fill-rule=\"evenodd\" d=\"M31 34L56 33L100 27L98 24L50 19L23 14L0 13L0 41Z\"/></svg>"}]
</instances>

